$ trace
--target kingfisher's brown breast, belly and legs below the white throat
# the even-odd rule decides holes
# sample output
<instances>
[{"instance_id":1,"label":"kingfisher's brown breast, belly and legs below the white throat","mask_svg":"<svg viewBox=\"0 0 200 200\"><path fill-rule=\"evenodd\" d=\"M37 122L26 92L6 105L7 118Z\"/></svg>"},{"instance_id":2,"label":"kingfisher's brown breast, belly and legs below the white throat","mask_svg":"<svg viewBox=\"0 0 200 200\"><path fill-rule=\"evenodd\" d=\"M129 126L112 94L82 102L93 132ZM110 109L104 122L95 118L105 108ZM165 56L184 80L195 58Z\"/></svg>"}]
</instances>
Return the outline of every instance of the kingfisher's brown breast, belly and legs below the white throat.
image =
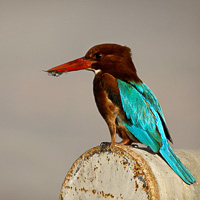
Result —
<instances>
[{"instance_id":1,"label":"kingfisher's brown breast, belly and legs below the white throat","mask_svg":"<svg viewBox=\"0 0 200 200\"><path fill-rule=\"evenodd\" d=\"M116 133L122 138L122 144L132 143L127 135L126 127L117 119L120 117L124 121L128 120L122 109L116 79L108 73L99 72L94 78L93 91L97 108L106 121L111 134L111 147L115 145ZM138 140L135 139L136 141Z\"/></svg>"}]
</instances>

